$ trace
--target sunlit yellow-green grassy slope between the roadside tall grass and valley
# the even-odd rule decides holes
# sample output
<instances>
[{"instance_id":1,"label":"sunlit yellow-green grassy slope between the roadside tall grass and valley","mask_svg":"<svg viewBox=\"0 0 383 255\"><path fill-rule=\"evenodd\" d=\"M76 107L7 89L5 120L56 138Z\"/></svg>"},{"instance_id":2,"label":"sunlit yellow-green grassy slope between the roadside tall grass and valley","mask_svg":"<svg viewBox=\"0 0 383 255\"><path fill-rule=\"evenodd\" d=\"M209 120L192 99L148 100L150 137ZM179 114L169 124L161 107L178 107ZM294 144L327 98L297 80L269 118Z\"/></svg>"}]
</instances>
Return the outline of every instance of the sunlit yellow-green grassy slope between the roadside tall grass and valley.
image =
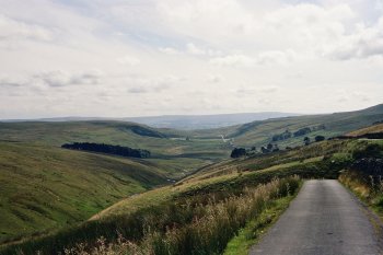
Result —
<instances>
[{"instance_id":1,"label":"sunlit yellow-green grassy slope between the roadside tall grass and valley","mask_svg":"<svg viewBox=\"0 0 383 255\"><path fill-rule=\"evenodd\" d=\"M176 183L161 189L154 189L126 198L112 207L97 213L93 219L106 219L118 215L129 213L148 205L161 204L172 199L179 194L188 196L198 193L210 193L235 188L243 185L265 183L272 177L283 177L293 174L303 176L328 176L336 177L333 172L318 169L316 165L326 164L324 155L333 155L334 159L343 161L344 152L352 150L359 141L324 141L313 143L309 147L297 148L291 151L280 151L266 155L257 155L239 160L223 161L205 169ZM339 157L337 157L339 155ZM338 159L339 158L339 159ZM334 164L334 169L337 164Z\"/></svg>"}]
</instances>

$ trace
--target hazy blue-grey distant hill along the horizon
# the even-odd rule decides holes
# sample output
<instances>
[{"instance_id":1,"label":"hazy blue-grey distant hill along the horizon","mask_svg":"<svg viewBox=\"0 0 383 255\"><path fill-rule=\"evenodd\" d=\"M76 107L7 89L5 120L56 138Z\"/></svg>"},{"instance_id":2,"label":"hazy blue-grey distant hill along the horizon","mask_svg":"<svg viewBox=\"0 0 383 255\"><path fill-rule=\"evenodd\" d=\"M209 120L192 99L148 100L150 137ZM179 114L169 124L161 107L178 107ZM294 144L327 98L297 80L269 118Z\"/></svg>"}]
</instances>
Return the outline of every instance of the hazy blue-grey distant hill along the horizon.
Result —
<instances>
[{"instance_id":1,"label":"hazy blue-grey distant hill along the horizon","mask_svg":"<svg viewBox=\"0 0 383 255\"><path fill-rule=\"evenodd\" d=\"M228 127L239 124L251 123L254 120L264 120L269 118L280 118L287 116L298 116L291 113L263 112L263 113L240 113L240 114L218 114L218 115L163 115L149 117L125 117L125 118L107 118L107 117L57 117L57 118L39 118L39 119L3 119L4 123L18 121L92 121L92 120L117 120L132 121L148 125L155 128L175 128L183 130L209 129Z\"/></svg>"}]
</instances>

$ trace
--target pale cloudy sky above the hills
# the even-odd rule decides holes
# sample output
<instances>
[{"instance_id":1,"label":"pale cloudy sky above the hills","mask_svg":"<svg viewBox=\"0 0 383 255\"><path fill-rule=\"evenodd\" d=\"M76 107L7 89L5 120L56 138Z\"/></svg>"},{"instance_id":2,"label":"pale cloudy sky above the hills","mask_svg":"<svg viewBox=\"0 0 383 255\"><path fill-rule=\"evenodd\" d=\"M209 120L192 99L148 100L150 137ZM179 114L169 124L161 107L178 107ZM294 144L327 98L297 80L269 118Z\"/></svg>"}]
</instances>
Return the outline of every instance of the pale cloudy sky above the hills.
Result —
<instances>
[{"instance_id":1,"label":"pale cloudy sky above the hills","mask_svg":"<svg viewBox=\"0 0 383 255\"><path fill-rule=\"evenodd\" d=\"M0 118L383 103L383 0L0 0Z\"/></svg>"}]
</instances>

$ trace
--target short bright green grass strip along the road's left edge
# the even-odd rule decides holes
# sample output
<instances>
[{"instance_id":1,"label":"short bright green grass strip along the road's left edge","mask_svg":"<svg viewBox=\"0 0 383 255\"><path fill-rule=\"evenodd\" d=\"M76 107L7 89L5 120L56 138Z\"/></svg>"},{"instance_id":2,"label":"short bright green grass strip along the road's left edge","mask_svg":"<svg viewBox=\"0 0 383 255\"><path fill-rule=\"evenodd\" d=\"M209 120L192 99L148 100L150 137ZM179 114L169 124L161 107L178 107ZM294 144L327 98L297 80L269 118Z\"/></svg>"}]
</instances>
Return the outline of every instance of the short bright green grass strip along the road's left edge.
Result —
<instances>
[{"instance_id":1,"label":"short bright green grass strip along the road's left edge","mask_svg":"<svg viewBox=\"0 0 383 255\"><path fill-rule=\"evenodd\" d=\"M239 234L228 243L223 254L247 255L249 248L256 244L262 235L279 219L294 197L295 195L291 195L270 201L259 216L249 221L245 228L241 229Z\"/></svg>"}]
</instances>

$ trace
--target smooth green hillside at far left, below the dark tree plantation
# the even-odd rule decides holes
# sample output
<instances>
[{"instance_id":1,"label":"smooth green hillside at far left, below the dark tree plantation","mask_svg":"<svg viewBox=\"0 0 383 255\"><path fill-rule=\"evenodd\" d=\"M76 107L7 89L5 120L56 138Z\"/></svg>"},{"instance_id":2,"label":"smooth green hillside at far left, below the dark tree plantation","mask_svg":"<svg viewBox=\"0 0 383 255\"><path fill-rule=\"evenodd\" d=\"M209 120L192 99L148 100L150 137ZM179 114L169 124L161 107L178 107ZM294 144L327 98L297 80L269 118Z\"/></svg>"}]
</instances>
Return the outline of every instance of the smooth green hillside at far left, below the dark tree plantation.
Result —
<instances>
[{"instance_id":1,"label":"smooth green hillside at far left, below the dark tree plantation","mask_svg":"<svg viewBox=\"0 0 383 255\"><path fill-rule=\"evenodd\" d=\"M88 219L166 179L153 165L55 147L0 142L0 242Z\"/></svg>"}]
</instances>

